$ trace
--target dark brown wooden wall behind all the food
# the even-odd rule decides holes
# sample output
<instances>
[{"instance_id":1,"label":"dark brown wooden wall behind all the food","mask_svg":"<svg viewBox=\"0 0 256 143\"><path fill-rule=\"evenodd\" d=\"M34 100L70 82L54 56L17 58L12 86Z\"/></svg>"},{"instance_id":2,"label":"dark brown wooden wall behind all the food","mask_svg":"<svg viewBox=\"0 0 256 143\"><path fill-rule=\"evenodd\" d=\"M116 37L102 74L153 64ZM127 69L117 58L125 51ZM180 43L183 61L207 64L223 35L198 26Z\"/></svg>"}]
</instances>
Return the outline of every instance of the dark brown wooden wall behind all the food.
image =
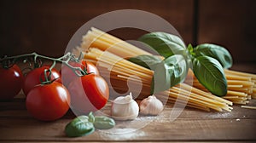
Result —
<instances>
[{"instance_id":1,"label":"dark brown wooden wall behind all the food","mask_svg":"<svg viewBox=\"0 0 256 143\"><path fill-rule=\"evenodd\" d=\"M256 63L254 0L1 0L0 55L36 51L61 56L73 33L88 20L117 9L140 9L169 21L186 44L217 43L230 50L236 65ZM141 33L119 29L134 38ZM255 66L251 66L254 71Z\"/></svg>"}]
</instances>

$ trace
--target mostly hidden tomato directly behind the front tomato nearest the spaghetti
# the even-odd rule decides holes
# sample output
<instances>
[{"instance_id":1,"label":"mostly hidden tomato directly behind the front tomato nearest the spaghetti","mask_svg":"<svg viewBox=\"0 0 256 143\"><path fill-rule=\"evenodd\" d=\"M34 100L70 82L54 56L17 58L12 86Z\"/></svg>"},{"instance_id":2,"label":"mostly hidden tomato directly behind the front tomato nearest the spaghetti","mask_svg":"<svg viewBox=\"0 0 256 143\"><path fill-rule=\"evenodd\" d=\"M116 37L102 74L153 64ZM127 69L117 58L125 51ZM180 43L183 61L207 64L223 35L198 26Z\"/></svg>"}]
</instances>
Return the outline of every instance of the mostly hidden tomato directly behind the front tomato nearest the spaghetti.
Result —
<instances>
[{"instance_id":1,"label":"mostly hidden tomato directly behind the front tomato nearest the spaghetti","mask_svg":"<svg viewBox=\"0 0 256 143\"><path fill-rule=\"evenodd\" d=\"M95 73L99 75L99 71L95 65L93 65L89 61L82 60L81 63L79 62L69 62L69 64L73 67L80 67L82 70L86 68L88 73ZM62 66L61 68L61 81L64 85L68 86L75 78L78 76L72 71L72 69L68 66Z\"/></svg>"}]
</instances>

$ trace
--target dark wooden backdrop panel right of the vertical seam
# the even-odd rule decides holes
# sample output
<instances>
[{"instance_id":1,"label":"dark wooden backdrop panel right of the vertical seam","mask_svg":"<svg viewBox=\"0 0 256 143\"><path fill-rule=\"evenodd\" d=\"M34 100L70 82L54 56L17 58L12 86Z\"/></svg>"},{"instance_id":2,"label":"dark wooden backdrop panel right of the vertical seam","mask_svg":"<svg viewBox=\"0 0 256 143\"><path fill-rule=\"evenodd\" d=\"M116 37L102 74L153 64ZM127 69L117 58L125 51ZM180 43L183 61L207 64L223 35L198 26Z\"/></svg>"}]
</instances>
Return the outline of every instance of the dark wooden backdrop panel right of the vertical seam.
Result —
<instances>
[{"instance_id":1,"label":"dark wooden backdrop panel right of the vertical seam","mask_svg":"<svg viewBox=\"0 0 256 143\"><path fill-rule=\"evenodd\" d=\"M256 2L200 1L198 43L217 43L230 50L235 63L255 62Z\"/></svg>"}]
</instances>

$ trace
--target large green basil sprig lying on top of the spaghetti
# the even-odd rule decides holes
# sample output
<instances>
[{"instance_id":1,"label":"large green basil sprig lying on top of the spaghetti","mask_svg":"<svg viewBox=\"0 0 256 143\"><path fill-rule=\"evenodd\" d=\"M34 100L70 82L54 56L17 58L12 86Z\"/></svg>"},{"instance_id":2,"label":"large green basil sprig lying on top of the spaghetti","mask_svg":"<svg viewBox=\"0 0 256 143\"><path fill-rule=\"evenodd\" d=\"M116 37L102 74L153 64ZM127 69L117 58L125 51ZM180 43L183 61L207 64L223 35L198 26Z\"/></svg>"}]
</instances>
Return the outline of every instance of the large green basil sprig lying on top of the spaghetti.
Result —
<instances>
[{"instance_id":1,"label":"large green basil sprig lying on top of the spaghetti","mask_svg":"<svg viewBox=\"0 0 256 143\"><path fill-rule=\"evenodd\" d=\"M181 38L160 31L145 34L138 40L165 58L160 60L152 55L140 55L130 59L131 62L154 70L151 93L164 91L183 82L189 67L193 67L195 77L212 94L223 96L227 93L223 68L232 66L232 57L224 47L203 43L195 48L189 44L186 49Z\"/></svg>"}]
</instances>

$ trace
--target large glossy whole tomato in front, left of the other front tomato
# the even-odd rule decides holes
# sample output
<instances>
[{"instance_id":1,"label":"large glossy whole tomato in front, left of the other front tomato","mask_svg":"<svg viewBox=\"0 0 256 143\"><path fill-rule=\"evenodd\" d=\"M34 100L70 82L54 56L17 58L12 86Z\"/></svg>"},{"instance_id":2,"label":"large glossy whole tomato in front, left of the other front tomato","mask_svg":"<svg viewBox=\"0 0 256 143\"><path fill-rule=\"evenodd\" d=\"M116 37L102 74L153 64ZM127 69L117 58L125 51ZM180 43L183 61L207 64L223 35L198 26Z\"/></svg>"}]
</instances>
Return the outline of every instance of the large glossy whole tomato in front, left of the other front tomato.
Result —
<instances>
[{"instance_id":1,"label":"large glossy whole tomato in front, left of the other front tomato","mask_svg":"<svg viewBox=\"0 0 256 143\"><path fill-rule=\"evenodd\" d=\"M63 117L70 104L68 90L58 82L38 84L26 96L26 109L42 121L54 121Z\"/></svg>"}]
</instances>

